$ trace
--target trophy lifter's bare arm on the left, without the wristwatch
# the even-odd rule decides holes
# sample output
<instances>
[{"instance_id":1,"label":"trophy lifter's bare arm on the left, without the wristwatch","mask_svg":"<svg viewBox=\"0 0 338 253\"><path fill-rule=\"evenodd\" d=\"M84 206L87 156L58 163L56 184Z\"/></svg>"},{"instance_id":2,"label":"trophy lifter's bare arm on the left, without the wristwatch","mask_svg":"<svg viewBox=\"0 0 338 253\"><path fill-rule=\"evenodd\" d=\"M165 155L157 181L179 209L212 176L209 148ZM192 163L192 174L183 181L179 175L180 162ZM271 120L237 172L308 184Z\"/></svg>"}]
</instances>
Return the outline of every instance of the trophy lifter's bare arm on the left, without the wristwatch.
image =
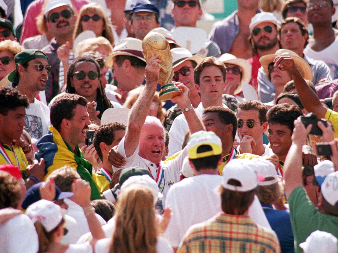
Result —
<instances>
[{"instance_id":1,"label":"trophy lifter's bare arm on the left, without the wristwatch","mask_svg":"<svg viewBox=\"0 0 338 253\"><path fill-rule=\"evenodd\" d=\"M141 129L148 115L153 95L159 82L161 60L157 55L152 56L145 68L146 85L144 90L132 106L124 140L124 150L127 157L134 154L140 142Z\"/></svg>"}]
</instances>

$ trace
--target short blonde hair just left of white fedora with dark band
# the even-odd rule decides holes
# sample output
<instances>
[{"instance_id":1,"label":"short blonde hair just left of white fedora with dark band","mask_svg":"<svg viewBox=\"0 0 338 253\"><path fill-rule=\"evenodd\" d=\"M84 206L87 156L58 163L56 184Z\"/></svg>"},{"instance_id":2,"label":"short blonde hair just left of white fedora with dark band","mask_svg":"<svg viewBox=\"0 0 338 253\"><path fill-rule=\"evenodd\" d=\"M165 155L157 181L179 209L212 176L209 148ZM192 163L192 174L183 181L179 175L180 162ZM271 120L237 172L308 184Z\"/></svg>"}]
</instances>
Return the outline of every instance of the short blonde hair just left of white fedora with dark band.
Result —
<instances>
[{"instance_id":1,"label":"short blonde hair just left of white fedora with dark band","mask_svg":"<svg viewBox=\"0 0 338 253\"><path fill-rule=\"evenodd\" d=\"M107 49L108 55L113 53L112 44L106 38L99 36L97 38L86 39L77 44L77 46L74 49L75 55L81 56L88 52L96 52L96 49L100 45L104 46Z\"/></svg>"}]
</instances>

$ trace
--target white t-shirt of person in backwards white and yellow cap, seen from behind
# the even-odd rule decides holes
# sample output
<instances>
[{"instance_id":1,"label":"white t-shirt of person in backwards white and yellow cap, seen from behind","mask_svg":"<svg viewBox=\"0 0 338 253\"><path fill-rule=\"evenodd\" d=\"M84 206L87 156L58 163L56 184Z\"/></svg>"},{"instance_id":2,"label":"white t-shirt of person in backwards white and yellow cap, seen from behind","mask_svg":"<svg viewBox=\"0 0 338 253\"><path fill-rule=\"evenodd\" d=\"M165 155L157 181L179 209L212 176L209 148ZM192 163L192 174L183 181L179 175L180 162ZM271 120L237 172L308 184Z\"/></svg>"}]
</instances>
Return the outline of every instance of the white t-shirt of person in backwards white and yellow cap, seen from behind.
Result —
<instances>
[{"instance_id":1,"label":"white t-shirt of person in backwards white and yellow cap, seen from behind","mask_svg":"<svg viewBox=\"0 0 338 253\"><path fill-rule=\"evenodd\" d=\"M172 247L179 246L190 226L204 222L222 211L221 198L217 192L221 182L222 176L202 174L185 178L169 189L166 206L172 208L172 216L164 237ZM271 229L256 196L248 215L257 224Z\"/></svg>"}]
</instances>

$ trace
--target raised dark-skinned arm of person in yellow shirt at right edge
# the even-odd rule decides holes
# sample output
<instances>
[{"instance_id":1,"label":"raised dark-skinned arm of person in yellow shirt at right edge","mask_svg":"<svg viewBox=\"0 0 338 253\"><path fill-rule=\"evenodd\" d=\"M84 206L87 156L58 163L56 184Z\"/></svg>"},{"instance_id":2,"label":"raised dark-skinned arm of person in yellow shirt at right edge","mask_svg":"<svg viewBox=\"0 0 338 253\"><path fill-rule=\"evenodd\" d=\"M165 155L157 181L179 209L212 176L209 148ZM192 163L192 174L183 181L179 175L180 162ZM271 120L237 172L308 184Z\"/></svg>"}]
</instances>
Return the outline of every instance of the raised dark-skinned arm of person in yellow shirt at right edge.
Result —
<instances>
[{"instance_id":1,"label":"raised dark-skinned arm of person in yellow shirt at right edge","mask_svg":"<svg viewBox=\"0 0 338 253\"><path fill-rule=\"evenodd\" d=\"M281 69L288 71L292 76L303 106L309 112L316 114L318 118L324 118L328 109L319 101L317 94L308 86L293 59L290 56L278 55L275 58L274 63L274 67L280 67Z\"/></svg>"}]
</instances>

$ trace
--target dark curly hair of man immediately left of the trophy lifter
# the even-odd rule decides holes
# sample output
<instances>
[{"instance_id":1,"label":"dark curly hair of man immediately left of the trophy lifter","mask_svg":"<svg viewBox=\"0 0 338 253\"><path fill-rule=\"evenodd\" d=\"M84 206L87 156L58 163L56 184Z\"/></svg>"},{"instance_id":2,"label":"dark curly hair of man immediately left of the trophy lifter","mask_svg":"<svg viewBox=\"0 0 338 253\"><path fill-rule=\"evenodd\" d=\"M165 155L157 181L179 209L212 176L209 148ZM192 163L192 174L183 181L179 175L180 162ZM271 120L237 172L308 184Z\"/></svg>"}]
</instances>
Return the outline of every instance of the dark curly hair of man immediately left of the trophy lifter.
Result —
<instances>
[{"instance_id":1,"label":"dark curly hair of man immediately left of the trophy lifter","mask_svg":"<svg viewBox=\"0 0 338 253\"><path fill-rule=\"evenodd\" d=\"M93 144L101 161L102 151L100 148L100 143L104 142L106 145L111 145L115 140L114 131L116 130L126 130L125 124L120 122L106 123L100 125L94 134Z\"/></svg>"}]
</instances>

